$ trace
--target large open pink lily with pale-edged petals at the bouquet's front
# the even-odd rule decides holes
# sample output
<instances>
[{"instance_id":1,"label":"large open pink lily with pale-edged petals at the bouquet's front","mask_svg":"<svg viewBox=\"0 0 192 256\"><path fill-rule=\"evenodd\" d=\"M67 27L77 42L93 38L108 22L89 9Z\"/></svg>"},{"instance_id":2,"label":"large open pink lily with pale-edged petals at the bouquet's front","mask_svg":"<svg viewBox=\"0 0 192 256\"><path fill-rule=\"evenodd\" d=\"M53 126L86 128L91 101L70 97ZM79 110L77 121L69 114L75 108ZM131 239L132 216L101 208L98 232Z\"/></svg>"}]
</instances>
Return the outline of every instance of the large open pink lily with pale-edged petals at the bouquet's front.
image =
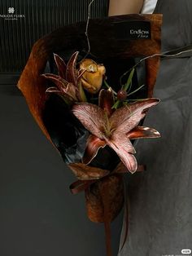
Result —
<instances>
[{"instance_id":1,"label":"large open pink lily with pale-edged petals at the bouquet's front","mask_svg":"<svg viewBox=\"0 0 192 256\"><path fill-rule=\"evenodd\" d=\"M99 106L89 103L74 104L72 113L89 130L83 163L88 165L96 157L99 148L111 147L124 166L134 173L137 170L137 160L133 156L135 149L130 139L157 138L157 130L138 126L146 110L159 103L159 99L143 99L124 107L111 109L113 95L111 90L101 90Z\"/></svg>"}]
</instances>

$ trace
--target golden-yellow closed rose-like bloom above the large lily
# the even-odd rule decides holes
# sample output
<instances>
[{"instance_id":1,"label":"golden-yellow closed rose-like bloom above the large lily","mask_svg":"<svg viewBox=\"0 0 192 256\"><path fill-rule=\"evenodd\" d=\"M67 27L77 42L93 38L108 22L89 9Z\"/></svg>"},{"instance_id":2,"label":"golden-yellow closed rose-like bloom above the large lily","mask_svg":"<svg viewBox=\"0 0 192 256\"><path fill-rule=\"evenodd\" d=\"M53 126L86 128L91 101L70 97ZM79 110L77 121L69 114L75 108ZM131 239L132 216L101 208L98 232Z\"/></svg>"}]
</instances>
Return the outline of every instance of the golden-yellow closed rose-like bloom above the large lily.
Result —
<instances>
[{"instance_id":1,"label":"golden-yellow closed rose-like bloom above the large lily","mask_svg":"<svg viewBox=\"0 0 192 256\"><path fill-rule=\"evenodd\" d=\"M81 77L83 88L90 93L97 93L100 90L106 69L103 64L97 64L94 60L85 59L80 64L80 70L85 69Z\"/></svg>"}]
</instances>

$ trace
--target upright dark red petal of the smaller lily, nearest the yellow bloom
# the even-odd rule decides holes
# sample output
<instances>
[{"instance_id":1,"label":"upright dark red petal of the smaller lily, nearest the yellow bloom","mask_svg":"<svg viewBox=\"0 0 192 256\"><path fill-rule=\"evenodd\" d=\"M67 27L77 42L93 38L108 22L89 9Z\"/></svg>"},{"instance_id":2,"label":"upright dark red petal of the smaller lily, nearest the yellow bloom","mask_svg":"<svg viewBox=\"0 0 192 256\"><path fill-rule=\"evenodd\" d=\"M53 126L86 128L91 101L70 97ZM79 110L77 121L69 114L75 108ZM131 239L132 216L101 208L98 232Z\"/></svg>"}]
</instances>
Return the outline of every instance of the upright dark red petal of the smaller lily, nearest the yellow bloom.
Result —
<instances>
[{"instance_id":1,"label":"upright dark red petal of the smaller lily, nearest the yellow bloom","mask_svg":"<svg viewBox=\"0 0 192 256\"><path fill-rule=\"evenodd\" d=\"M66 70L66 80L68 82L72 82L74 85L76 85L76 80L77 80L77 72L76 72L76 60L77 56L79 54L79 51L76 51L71 59L68 61L67 64L67 70Z\"/></svg>"}]
</instances>

